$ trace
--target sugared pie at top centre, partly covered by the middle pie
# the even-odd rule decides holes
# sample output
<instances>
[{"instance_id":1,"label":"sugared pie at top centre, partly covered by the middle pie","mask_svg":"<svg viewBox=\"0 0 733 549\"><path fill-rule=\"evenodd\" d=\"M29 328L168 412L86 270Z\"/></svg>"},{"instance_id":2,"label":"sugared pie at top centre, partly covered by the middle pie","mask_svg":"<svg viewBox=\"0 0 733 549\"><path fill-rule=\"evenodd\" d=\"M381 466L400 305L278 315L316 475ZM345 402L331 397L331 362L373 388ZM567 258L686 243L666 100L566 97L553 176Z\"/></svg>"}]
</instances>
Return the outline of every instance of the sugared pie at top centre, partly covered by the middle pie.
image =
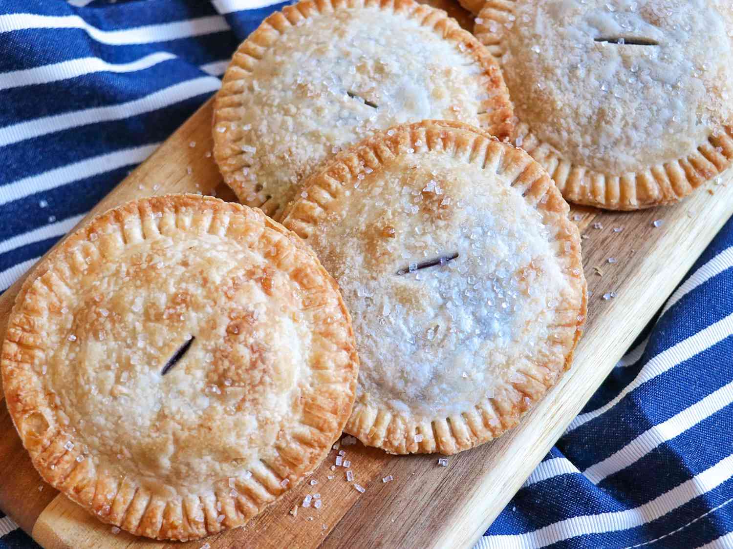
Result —
<instances>
[{"instance_id":1,"label":"sugared pie at top centre, partly covered by the middle pie","mask_svg":"<svg viewBox=\"0 0 733 549\"><path fill-rule=\"evenodd\" d=\"M306 0L270 15L233 56L214 155L240 201L278 219L294 184L339 148L427 118L511 132L501 71L476 38L412 0Z\"/></svg>"}]
</instances>

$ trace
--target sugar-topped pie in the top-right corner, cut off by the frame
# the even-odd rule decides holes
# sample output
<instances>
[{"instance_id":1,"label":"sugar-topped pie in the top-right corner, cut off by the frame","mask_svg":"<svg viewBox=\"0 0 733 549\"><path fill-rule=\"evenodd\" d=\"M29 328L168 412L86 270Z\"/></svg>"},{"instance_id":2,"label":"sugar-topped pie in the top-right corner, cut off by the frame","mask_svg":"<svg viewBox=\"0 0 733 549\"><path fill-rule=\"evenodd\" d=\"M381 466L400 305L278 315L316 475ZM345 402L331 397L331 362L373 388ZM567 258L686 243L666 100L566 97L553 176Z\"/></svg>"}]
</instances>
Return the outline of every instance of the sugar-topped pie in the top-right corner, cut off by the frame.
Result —
<instances>
[{"instance_id":1,"label":"sugar-topped pie in the top-right corner, cut off by the frame","mask_svg":"<svg viewBox=\"0 0 733 549\"><path fill-rule=\"evenodd\" d=\"M568 201L671 203L731 164L729 0L490 0L475 32Z\"/></svg>"}]
</instances>

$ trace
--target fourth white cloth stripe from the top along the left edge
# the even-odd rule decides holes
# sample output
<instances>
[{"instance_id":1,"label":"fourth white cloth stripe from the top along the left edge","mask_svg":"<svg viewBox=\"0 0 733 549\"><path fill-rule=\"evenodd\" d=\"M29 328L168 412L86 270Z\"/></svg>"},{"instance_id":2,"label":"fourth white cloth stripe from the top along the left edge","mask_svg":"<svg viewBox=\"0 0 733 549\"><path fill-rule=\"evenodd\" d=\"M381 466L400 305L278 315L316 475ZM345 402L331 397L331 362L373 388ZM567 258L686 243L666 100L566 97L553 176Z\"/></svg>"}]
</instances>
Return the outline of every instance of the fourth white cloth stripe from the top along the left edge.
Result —
<instances>
[{"instance_id":1,"label":"fourth white cloth stripe from the top along the left edge","mask_svg":"<svg viewBox=\"0 0 733 549\"><path fill-rule=\"evenodd\" d=\"M152 143L134 147L133 149L122 149L121 151L100 154L97 157L80 160L73 164L67 164L60 168L44 171L34 176L18 179L0 187L0 206L4 203L20 200L27 196L41 193L45 190L54 189L61 185L86 179L106 171L117 170L122 166L141 163L158 149L161 143ZM50 210L49 210L50 211Z\"/></svg>"}]
</instances>

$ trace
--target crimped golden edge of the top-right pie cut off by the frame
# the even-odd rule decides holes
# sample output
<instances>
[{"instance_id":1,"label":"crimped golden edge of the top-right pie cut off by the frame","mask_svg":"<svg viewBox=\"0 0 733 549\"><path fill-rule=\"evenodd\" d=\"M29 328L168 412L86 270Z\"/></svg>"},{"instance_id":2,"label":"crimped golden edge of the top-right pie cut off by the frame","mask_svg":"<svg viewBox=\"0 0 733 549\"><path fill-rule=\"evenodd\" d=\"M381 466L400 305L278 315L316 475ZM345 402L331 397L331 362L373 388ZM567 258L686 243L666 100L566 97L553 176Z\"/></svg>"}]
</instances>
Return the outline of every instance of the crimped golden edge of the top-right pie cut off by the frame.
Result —
<instances>
[{"instance_id":1,"label":"crimped golden edge of the top-right pie cut off by the frame","mask_svg":"<svg viewBox=\"0 0 733 549\"><path fill-rule=\"evenodd\" d=\"M476 18L474 34L499 64L505 48L503 37L509 31L505 25L510 22L516 1L487 0ZM491 21L498 23L496 32L490 30ZM733 163L733 126L717 130L684 157L622 175L594 171L564 159L521 120L515 126L512 142L519 138L521 147L548 171L567 201L630 211L675 203L726 171Z\"/></svg>"}]
</instances>

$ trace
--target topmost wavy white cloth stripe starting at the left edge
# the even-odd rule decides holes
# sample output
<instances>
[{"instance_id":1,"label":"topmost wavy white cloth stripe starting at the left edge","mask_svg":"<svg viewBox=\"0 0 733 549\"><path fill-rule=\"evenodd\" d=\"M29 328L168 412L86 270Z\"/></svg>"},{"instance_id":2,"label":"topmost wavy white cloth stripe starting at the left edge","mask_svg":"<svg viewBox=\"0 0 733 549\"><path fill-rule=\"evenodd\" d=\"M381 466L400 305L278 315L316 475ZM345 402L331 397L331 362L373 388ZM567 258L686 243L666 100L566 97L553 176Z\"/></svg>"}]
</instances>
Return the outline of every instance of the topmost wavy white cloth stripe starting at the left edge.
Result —
<instances>
[{"instance_id":1,"label":"topmost wavy white cloth stripe starting at the left edge","mask_svg":"<svg viewBox=\"0 0 733 549\"><path fill-rule=\"evenodd\" d=\"M207 15L206 17L174 21L172 23L103 31L89 25L78 15L37 15L34 13L0 15L0 33L24 29L82 29L97 42L108 45L129 45L167 42L179 38L228 31L229 24L221 15Z\"/></svg>"}]
</instances>

